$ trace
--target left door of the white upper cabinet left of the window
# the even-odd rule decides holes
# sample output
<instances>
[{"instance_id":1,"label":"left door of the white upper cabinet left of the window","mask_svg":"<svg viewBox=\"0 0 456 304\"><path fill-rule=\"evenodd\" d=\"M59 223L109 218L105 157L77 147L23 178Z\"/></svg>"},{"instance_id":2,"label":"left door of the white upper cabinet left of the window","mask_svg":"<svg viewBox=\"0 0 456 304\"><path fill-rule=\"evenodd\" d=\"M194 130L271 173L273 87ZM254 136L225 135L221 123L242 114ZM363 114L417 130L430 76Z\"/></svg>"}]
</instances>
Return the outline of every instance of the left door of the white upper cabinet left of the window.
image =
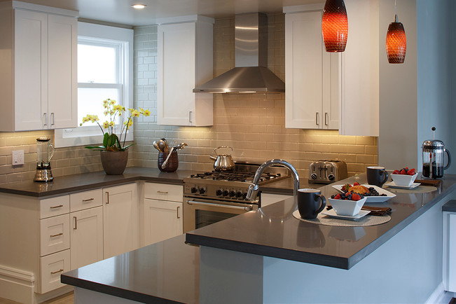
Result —
<instances>
[{"instance_id":1,"label":"left door of the white upper cabinet left of the window","mask_svg":"<svg viewBox=\"0 0 456 304\"><path fill-rule=\"evenodd\" d=\"M14 119L15 130L47 127L48 15L15 10ZM46 114L45 114L46 113Z\"/></svg>"}]
</instances>

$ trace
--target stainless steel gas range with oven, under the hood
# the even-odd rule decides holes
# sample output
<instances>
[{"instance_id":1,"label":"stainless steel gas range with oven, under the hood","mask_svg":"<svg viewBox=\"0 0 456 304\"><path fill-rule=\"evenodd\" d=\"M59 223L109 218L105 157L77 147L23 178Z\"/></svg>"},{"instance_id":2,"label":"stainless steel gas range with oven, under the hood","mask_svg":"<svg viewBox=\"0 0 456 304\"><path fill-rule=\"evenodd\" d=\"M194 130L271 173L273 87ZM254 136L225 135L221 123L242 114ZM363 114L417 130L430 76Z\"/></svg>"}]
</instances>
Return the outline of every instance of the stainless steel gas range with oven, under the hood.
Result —
<instances>
[{"instance_id":1,"label":"stainless steel gas range with oven, under the hood","mask_svg":"<svg viewBox=\"0 0 456 304\"><path fill-rule=\"evenodd\" d=\"M246 198L260 165L236 163L233 172L205 172L184 179L184 233L261 207ZM288 178L288 169L268 167L258 185Z\"/></svg>"}]
</instances>

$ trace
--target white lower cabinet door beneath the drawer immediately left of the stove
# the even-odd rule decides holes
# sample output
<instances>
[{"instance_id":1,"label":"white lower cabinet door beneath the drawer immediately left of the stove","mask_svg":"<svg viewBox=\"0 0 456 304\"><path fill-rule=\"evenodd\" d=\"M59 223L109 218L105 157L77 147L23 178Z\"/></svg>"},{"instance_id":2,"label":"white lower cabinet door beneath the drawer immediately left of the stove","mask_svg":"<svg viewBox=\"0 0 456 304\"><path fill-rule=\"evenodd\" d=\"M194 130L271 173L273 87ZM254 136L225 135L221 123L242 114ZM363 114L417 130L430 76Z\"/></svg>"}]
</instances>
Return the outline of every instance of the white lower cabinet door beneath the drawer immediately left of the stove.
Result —
<instances>
[{"instance_id":1,"label":"white lower cabinet door beneath the drawer immediately left of the stove","mask_svg":"<svg viewBox=\"0 0 456 304\"><path fill-rule=\"evenodd\" d=\"M144 245L183 233L182 202L144 200Z\"/></svg>"}]
</instances>

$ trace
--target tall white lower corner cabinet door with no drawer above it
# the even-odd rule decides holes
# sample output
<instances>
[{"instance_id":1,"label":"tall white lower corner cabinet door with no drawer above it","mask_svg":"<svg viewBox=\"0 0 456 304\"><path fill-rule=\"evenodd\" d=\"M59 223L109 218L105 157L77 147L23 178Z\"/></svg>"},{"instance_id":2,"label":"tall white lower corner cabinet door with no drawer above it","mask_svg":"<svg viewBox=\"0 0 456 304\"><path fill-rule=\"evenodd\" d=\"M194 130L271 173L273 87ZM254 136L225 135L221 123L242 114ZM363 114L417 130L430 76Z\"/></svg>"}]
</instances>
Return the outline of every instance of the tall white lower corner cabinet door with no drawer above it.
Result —
<instances>
[{"instance_id":1,"label":"tall white lower corner cabinet door with no drawer above it","mask_svg":"<svg viewBox=\"0 0 456 304\"><path fill-rule=\"evenodd\" d=\"M137 185L103 189L103 254L117 256L139 247Z\"/></svg>"}]
</instances>

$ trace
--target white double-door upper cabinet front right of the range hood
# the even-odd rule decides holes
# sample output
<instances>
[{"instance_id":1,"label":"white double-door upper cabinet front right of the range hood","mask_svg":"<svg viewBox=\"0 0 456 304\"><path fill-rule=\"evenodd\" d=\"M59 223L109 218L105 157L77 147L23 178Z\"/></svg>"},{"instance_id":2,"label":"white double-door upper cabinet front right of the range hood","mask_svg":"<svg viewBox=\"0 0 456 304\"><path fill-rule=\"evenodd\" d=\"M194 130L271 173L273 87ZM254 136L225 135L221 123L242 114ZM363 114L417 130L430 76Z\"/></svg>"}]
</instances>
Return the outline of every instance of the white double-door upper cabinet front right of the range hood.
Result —
<instances>
[{"instance_id":1,"label":"white double-door upper cabinet front right of the range hood","mask_svg":"<svg viewBox=\"0 0 456 304\"><path fill-rule=\"evenodd\" d=\"M340 55L326 53L317 7L284 8L285 127L337 130Z\"/></svg>"}]
</instances>

